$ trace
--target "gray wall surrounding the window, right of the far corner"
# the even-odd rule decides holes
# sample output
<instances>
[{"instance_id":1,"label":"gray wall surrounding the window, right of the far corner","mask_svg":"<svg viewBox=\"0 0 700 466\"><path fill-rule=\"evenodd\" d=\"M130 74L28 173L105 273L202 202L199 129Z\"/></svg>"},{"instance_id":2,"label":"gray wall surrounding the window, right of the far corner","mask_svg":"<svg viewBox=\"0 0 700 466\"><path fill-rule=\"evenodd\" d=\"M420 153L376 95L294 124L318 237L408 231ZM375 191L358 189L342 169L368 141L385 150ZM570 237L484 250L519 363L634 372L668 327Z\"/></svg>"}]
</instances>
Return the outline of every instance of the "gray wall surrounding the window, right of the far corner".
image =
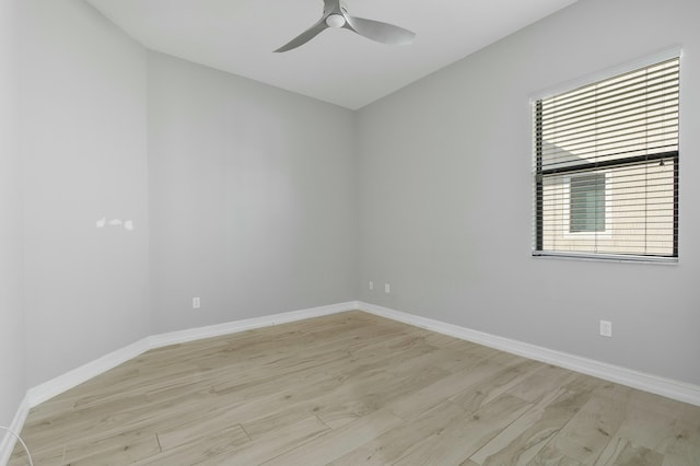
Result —
<instances>
[{"instance_id":1,"label":"gray wall surrounding the window, right of the far corner","mask_svg":"<svg viewBox=\"0 0 700 466\"><path fill-rule=\"evenodd\" d=\"M360 298L699 384L699 18L696 0L581 0L362 109ZM530 257L530 96L675 44L679 264Z\"/></svg>"}]
</instances>

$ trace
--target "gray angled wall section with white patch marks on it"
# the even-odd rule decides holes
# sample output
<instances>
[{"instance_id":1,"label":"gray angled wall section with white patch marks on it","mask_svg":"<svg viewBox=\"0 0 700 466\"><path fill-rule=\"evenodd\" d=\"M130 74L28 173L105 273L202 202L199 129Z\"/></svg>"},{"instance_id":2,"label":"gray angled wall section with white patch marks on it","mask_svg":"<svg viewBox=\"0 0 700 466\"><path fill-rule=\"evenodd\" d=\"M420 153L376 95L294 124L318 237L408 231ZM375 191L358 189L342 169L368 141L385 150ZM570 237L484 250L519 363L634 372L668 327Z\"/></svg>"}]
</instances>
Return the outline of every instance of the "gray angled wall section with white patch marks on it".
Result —
<instances>
[{"instance_id":1,"label":"gray angled wall section with white patch marks on it","mask_svg":"<svg viewBox=\"0 0 700 466\"><path fill-rule=\"evenodd\" d=\"M149 334L147 56L82 1L21 3L34 386Z\"/></svg>"}]
</instances>

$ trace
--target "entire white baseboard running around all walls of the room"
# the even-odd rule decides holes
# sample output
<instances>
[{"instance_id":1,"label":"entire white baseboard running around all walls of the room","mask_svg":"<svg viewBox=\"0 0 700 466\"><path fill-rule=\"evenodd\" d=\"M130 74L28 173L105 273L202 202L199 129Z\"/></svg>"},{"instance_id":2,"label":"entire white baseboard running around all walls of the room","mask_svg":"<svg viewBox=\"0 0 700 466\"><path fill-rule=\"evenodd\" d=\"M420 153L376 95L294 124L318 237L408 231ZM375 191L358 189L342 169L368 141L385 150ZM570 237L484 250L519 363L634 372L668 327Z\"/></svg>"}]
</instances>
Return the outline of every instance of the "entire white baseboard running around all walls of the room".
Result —
<instances>
[{"instance_id":1,"label":"entire white baseboard running around all walls of the room","mask_svg":"<svg viewBox=\"0 0 700 466\"><path fill-rule=\"evenodd\" d=\"M513 354L518 354L549 364L559 365L572 371L605 378L610 382L620 383L633 388L639 388L645 392L655 393L668 398L700 406L700 386L697 385L646 374L627 368L607 364L604 362L555 351L548 348L542 348L509 338L498 337L495 335L490 335L482 331L471 330L458 325L447 324L432 318L421 317L388 307L382 307L375 304L351 301L328 306L292 311L264 317L247 318L225 324L211 325L207 327L191 328L187 330L172 331L167 334L145 337L125 348L113 351L100 359L81 365L80 368L74 369L70 372L67 372L66 374L59 375L56 378L30 388L26 396L22 400L22 404L18 408L18 412L10 428L15 432L20 432L32 407L39 405L83 382L86 382L88 380L97 376L132 358L136 358L137 356L150 349L192 341L202 338L235 334L254 328L269 327L272 325L302 321L305 318L320 317L324 315L353 310L364 311L382 317L425 328L428 330L438 331L440 334L460 338L463 340L472 341L475 343L500 349L502 351L508 351ZM2 441L2 443L0 443L0 464L4 464L3 461L7 462L9 459L14 444L15 439L11 434L4 435L4 440Z\"/></svg>"}]
</instances>

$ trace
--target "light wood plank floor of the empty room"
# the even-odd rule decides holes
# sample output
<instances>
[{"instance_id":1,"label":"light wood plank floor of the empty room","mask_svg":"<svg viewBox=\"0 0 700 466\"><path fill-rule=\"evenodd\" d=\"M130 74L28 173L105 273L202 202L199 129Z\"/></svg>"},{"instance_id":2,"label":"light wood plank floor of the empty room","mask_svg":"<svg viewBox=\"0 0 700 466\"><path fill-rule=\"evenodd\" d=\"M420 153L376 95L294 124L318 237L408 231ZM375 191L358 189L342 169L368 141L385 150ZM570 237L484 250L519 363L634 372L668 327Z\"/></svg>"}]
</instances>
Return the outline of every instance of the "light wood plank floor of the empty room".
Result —
<instances>
[{"instance_id":1,"label":"light wood plank floor of the empty room","mask_svg":"<svg viewBox=\"0 0 700 466\"><path fill-rule=\"evenodd\" d=\"M700 465L698 407L361 312L149 351L22 436L36 465Z\"/></svg>"}]
</instances>

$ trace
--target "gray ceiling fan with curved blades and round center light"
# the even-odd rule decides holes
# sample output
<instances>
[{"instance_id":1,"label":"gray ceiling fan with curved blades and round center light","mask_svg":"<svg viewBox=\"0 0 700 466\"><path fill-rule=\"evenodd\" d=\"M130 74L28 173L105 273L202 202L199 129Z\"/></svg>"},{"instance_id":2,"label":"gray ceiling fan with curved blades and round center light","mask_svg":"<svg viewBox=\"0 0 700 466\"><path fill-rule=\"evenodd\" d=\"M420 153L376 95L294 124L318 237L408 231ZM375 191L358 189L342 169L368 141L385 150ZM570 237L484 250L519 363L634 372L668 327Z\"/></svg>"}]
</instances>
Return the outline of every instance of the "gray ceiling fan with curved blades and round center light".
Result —
<instances>
[{"instance_id":1,"label":"gray ceiling fan with curved blades and round center light","mask_svg":"<svg viewBox=\"0 0 700 466\"><path fill-rule=\"evenodd\" d=\"M324 0L324 14L320 20L275 51L288 51L304 45L328 27L349 30L369 39L388 45L412 44L416 37L416 33L393 24L350 16L346 2L342 0Z\"/></svg>"}]
</instances>

